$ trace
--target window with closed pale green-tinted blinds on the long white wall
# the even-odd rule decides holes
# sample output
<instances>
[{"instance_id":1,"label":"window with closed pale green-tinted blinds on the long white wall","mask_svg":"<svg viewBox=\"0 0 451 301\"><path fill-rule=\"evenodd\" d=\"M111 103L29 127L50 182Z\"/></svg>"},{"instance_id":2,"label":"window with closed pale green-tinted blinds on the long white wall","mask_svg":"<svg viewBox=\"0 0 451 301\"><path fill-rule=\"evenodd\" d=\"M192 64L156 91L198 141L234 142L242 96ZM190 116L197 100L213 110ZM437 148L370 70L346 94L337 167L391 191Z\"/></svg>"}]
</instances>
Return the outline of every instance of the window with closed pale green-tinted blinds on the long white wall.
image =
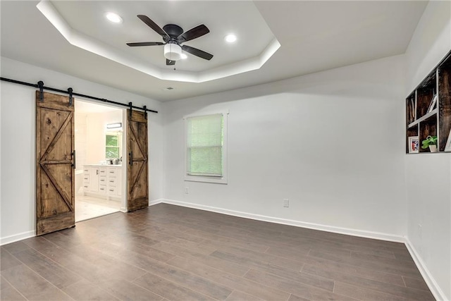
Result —
<instances>
[{"instance_id":1,"label":"window with closed pale green-tinted blinds on the long white wall","mask_svg":"<svg viewBox=\"0 0 451 301\"><path fill-rule=\"evenodd\" d=\"M187 117L185 127L187 180L224 183L226 169L224 114Z\"/></svg>"}]
</instances>

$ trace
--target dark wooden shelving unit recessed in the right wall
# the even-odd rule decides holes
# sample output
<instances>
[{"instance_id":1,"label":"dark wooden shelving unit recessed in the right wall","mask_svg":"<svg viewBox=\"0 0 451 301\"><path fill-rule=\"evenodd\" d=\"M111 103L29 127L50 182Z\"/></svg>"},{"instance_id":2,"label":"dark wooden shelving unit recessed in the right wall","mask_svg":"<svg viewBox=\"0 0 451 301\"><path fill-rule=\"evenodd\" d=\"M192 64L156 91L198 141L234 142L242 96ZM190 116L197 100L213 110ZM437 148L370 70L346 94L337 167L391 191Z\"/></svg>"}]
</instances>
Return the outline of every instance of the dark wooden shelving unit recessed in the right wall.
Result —
<instances>
[{"instance_id":1,"label":"dark wooden shelving unit recessed in the right wall","mask_svg":"<svg viewBox=\"0 0 451 301\"><path fill-rule=\"evenodd\" d=\"M431 102L436 97L433 107ZM406 152L409 137L419 137L419 145L428 135L437 136L438 153L445 151L451 131L451 51L406 98ZM429 152L421 149L419 153Z\"/></svg>"}]
</instances>

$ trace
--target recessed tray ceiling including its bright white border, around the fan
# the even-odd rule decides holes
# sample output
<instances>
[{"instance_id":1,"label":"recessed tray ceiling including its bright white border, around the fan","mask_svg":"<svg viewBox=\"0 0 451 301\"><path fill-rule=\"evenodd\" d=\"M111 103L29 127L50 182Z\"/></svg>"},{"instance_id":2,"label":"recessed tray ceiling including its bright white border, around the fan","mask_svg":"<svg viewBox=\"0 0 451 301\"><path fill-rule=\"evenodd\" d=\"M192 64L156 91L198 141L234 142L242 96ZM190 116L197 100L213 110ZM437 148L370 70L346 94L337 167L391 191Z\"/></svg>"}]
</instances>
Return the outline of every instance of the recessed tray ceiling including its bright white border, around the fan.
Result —
<instances>
[{"instance_id":1,"label":"recessed tray ceiling including its bright white border, around the fan","mask_svg":"<svg viewBox=\"0 0 451 301\"><path fill-rule=\"evenodd\" d=\"M166 66L166 59L161 52L164 48L154 46L130 49L125 45L124 41L130 39L132 33L136 31L135 29L140 27L146 28L145 35L143 32L138 33L141 41L149 35L149 31L159 41L148 41L147 39L144 42L161 42L162 40L154 30L143 24L141 20L137 22L135 15L137 11L143 9L149 11L147 6L142 7L143 3L148 4L148 2L142 1L52 2L43 0L39 2L37 8L70 44L161 80L206 82L256 70L266 63L280 47L280 43L272 35L257 8L250 1L203 1L199 3L202 5L189 1L152 2L152 14L156 16L161 15L160 12L171 12L166 14L173 16L173 14L178 13L178 16L183 17L193 7L200 8L202 11L209 11L211 15L208 16L215 17L214 21L207 20L207 24L218 24L227 28L220 30L214 27L211 30L216 35L204 35L202 39L183 42L183 46L190 46L188 44L194 43L194 46L199 48L200 40L200 47L202 48L203 41L204 46L213 49L215 54L210 61L188 54L187 59L179 61L176 64L177 66ZM86 13L86 11L89 13ZM105 15L108 11L120 12L124 23L113 25L106 20ZM221 20L220 17L216 16L227 16L227 18ZM152 16L152 18L154 17ZM203 16L203 18L208 19L207 16ZM185 19L179 20L178 24L192 23L190 15ZM230 22L229 19L239 21L235 22L233 26L227 26ZM140 24L137 25L137 23ZM238 46L231 47L230 44L227 45L228 47L224 47L226 42L223 37L230 32L236 32L237 29L240 29L241 42L239 47L241 51L237 48ZM255 32L259 32L259 34L256 36ZM235 45L238 45L238 43L235 43Z\"/></svg>"}]
</instances>

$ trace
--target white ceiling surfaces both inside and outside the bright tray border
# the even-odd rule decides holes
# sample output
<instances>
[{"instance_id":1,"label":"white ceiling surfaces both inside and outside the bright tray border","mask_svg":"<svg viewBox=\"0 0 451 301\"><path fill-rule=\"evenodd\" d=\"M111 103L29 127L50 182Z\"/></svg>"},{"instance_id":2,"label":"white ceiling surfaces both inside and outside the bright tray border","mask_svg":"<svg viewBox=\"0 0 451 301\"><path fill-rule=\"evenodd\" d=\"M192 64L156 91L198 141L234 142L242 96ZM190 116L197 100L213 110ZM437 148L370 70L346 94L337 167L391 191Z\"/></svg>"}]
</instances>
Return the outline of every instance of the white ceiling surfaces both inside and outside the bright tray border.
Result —
<instances>
[{"instance_id":1,"label":"white ceiling surfaces both inside and outside the bright tray border","mask_svg":"<svg viewBox=\"0 0 451 301\"><path fill-rule=\"evenodd\" d=\"M137 51L137 47L125 47L125 44L121 43L122 39L128 37L128 32L130 38L125 39L123 43L159 41L156 33L138 18L132 17L137 14L149 16L161 27L166 23L176 23L184 30L201 23L209 27L209 34L187 42L187 45L211 52L215 55L214 59L208 62L190 58L189 62L180 63L180 68L185 70L204 70L218 66L214 65L218 61L232 63L242 57L254 56L257 48L268 43L268 33L275 36L281 44L280 49L258 70L194 83L160 80L69 44L37 10L38 2L0 1L1 56L160 101L233 90L403 54L427 5L427 1L105 2L115 4L115 10L123 9L123 12L116 10L116 13L123 16L123 26L127 25L127 29L125 32L118 30L115 35L114 27L106 27L106 23L101 19L103 16L97 16L100 11L106 9L101 6L103 1L54 2L55 6L61 9L60 13L68 18L71 26L78 26L78 30L101 39L111 47L122 47L121 50L128 54L152 64L161 64L162 49L159 52L156 50L159 47L141 47L142 49ZM68 2L64 4L65 8L61 8L62 2ZM169 9L169 6L180 6L183 9ZM217 8L221 9L218 11ZM221 13L234 9L240 11L241 8L254 9L252 18L246 18L249 12L237 13L230 18L226 13ZM73 11L73 15L69 11ZM154 12L157 12L156 16L153 16ZM258 20L264 20L266 25L255 27L254 22ZM248 29L255 35L249 37ZM221 39L228 30L236 31L239 39L242 39L243 35L246 39L252 38L252 41L256 41L255 48L252 48L252 43L240 41L234 45L221 46ZM226 48L228 51L223 51L223 47L229 47ZM208 63L212 63L212 66ZM159 67L166 68L164 65ZM51 86L50 82L46 84ZM166 87L173 87L174 90L166 90Z\"/></svg>"}]
</instances>

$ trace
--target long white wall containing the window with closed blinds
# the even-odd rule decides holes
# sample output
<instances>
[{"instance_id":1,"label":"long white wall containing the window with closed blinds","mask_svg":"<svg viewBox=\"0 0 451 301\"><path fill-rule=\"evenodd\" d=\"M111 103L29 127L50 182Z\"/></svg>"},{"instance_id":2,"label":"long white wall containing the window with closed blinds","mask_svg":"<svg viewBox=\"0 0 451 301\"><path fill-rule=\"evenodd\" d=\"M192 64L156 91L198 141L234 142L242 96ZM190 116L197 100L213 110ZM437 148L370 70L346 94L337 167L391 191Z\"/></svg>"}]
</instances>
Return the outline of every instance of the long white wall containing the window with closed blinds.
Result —
<instances>
[{"instance_id":1,"label":"long white wall containing the window with closed blinds","mask_svg":"<svg viewBox=\"0 0 451 301\"><path fill-rule=\"evenodd\" d=\"M395 56L163 103L166 199L402 240L403 63ZM227 109L228 185L185 182L183 116Z\"/></svg>"}]
</instances>

